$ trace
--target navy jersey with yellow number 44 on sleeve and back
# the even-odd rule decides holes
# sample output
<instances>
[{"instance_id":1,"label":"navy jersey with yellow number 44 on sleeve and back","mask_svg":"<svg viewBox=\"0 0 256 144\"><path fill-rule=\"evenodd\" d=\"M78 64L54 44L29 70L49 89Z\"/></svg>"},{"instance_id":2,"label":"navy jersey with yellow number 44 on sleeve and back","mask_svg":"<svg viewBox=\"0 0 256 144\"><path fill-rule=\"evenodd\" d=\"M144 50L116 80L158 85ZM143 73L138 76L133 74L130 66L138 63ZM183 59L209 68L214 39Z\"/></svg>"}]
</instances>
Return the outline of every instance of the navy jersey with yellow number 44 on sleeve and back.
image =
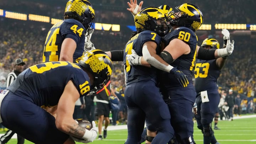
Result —
<instances>
[{"instance_id":1,"label":"navy jersey with yellow number 44 on sleeve and back","mask_svg":"<svg viewBox=\"0 0 256 144\"><path fill-rule=\"evenodd\" d=\"M76 42L73 63L78 63L84 53L86 29L81 22L74 19L60 21L49 30L44 44L43 63L59 61L60 49L65 38Z\"/></svg>"}]
</instances>

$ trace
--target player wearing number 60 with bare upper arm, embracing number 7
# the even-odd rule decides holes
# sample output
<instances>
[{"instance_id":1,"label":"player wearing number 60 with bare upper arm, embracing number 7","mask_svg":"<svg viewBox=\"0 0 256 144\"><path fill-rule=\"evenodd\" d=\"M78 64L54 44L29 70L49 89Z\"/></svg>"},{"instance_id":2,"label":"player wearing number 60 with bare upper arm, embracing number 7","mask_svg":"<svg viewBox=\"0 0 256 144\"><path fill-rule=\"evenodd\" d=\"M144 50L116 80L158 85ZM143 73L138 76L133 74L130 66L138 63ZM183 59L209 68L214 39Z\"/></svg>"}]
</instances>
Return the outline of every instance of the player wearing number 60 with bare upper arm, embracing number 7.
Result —
<instances>
[{"instance_id":1,"label":"player wearing number 60 with bare upper arm, embracing number 7","mask_svg":"<svg viewBox=\"0 0 256 144\"><path fill-rule=\"evenodd\" d=\"M230 55L233 52L234 42L228 41L228 48L222 50L204 50L197 46L197 37L194 34L203 23L201 10L193 4L182 4L176 7L177 13L169 11L169 21L172 30L163 38L163 51L160 53L162 59L168 64L176 66L188 76L189 82L180 86L180 81L176 77L165 71L160 71L159 82L162 95L164 95L170 112L172 114L171 123L174 127L176 138L179 143L193 143L193 120L191 110L196 99L196 91L192 84L192 70L196 57L202 59L215 59ZM200 54L198 54L200 53ZM143 63L142 58L138 58L132 52L128 62L134 61ZM132 60L130 60L132 59ZM186 84L187 87L186 87ZM185 87L185 88L184 88Z\"/></svg>"}]
</instances>

